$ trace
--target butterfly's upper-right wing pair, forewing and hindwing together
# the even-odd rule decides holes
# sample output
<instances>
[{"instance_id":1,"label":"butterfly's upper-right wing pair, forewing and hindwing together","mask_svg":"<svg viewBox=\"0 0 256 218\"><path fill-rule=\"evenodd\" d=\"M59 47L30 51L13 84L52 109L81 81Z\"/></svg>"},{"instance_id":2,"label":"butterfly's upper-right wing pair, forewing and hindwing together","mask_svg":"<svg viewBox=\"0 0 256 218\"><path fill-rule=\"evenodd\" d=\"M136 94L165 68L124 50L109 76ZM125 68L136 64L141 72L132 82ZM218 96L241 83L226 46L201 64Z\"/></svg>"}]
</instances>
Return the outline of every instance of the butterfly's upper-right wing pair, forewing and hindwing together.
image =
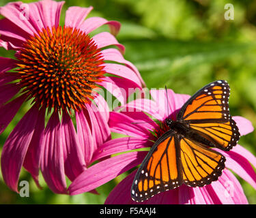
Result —
<instances>
[{"instance_id":1,"label":"butterfly's upper-right wing pair, forewing and hindwing together","mask_svg":"<svg viewBox=\"0 0 256 218\"><path fill-rule=\"evenodd\" d=\"M229 114L229 91L226 81L212 82L190 97L177 114L177 121L188 123L223 151L229 151L240 138Z\"/></svg>"}]
</instances>

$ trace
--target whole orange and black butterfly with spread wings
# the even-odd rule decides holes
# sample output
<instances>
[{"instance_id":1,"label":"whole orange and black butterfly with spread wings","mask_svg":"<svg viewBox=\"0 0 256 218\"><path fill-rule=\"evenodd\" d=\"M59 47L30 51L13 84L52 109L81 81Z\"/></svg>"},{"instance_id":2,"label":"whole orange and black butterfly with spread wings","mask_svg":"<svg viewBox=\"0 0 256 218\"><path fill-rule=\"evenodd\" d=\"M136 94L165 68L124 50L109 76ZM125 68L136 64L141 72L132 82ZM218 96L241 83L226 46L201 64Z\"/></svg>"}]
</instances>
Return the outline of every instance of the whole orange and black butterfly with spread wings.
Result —
<instances>
[{"instance_id":1,"label":"whole orange and black butterfly with spread wings","mask_svg":"<svg viewBox=\"0 0 256 218\"><path fill-rule=\"evenodd\" d=\"M203 187L218 180L225 157L211 148L229 151L240 139L229 114L229 84L212 82L182 106L176 121L156 140L141 163L131 188L132 200L142 202L182 184Z\"/></svg>"}]
</instances>

